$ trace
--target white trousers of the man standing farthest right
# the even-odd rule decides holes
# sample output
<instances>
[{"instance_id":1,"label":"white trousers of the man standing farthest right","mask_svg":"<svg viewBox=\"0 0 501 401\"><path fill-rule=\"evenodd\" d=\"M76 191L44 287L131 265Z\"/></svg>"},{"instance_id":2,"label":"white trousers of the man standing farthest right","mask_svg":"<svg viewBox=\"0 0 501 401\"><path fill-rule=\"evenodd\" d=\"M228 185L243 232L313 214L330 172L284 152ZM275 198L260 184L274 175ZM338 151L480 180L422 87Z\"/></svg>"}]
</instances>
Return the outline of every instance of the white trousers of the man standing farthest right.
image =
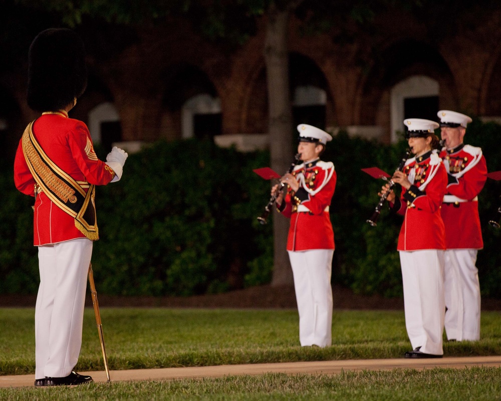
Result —
<instances>
[{"instance_id":1,"label":"white trousers of the man standing farthest right","mask_svg":"<svg viewBox=\"0 0 501 401\"><path fill-rule=\"evenodd\" d=\"M447 339L480 339L480 284L476 249L445 251L445 333Z\"/></svg>"}]
</instances>

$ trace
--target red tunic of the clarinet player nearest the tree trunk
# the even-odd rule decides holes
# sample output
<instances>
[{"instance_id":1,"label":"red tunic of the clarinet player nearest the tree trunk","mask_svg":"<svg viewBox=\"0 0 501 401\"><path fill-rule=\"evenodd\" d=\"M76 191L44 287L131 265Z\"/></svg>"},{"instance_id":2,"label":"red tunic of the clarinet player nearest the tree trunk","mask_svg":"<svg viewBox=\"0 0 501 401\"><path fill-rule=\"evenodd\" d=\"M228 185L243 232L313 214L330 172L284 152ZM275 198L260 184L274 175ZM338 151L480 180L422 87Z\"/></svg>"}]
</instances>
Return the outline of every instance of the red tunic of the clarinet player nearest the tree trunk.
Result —
<instances>
[{"instance_id":1,"label":"red tunic of the clarinet player nearest the tree trunk","mask_svg":"<svg viewBox=\"0 0 501 401\"><path fill-rule=\"evenodd\" d=\"M329 205L336 188L336 171L331 162L316 160L300 164L292 172L300 182L297 192L290 188L278 208L291 219L288 251L335 249Z\"/></svg>"}]
</instances>

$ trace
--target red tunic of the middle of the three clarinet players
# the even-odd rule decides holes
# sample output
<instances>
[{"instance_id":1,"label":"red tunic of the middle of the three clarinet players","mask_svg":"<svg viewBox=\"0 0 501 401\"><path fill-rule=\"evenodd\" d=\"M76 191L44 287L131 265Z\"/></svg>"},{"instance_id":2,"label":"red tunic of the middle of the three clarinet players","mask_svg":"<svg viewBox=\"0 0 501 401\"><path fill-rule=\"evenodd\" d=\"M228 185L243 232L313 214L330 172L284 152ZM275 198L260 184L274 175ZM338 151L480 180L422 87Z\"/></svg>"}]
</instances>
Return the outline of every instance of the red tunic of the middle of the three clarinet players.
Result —
<instances>
[{"instance_id":1,"label":"red tunic of the middle of the three clarinet players","mask_svg":"<svg viewBox=\"0 0 501 401\"><path fill-rule=\"evenodd\" d=\"M402 188L394 205L397 213L404 215L397 250L445 249L445 228L440 217L447 185L443 163L437 154L428 152L407 160L403 171L412 185L408 190Z\"/></svg>"}]
</instances>

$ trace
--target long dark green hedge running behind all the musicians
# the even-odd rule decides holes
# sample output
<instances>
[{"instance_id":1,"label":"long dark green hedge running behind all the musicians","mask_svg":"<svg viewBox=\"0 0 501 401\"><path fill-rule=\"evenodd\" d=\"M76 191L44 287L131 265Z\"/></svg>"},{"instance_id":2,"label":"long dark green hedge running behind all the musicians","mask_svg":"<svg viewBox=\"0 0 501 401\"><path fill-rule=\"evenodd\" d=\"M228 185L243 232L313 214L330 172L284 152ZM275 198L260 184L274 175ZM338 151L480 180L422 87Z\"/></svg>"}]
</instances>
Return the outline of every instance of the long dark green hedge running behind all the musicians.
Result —
<instances>
[{"instance_id":1,"label":"long dark green hedge running behind all the musicians","mask_svg":"<svg viewBox=\"0 0 501 401\"><path fill-rule=\"evenodd\" d=\"M489 171L501 169L501 126L474 121L467 143L481 146ZM406 142L395 145L338 134L323 156L336 165L331 206L336 237L333 281L356 292L401 296L396 242L399 216L381 213L377 227L365 221L378 202L381 180L361 168L393 171ZM106 152L99 148L103 158ZM267 151L239 153L210 141L159 142L130 155L122 180L97 188L100 241L93 267L100 293L190 295L269 283L273 265L272 225L259 216L269 182L252 170L269 165ZM0 293L34 293L38 286L33 244L33 198L14 188L12 165L0 173ZM501 297L499 183L487 180L479 198L485 247L478 254L482 294ZM281 218L281 217L280 217Z\"/></svg>"}]
</instances>

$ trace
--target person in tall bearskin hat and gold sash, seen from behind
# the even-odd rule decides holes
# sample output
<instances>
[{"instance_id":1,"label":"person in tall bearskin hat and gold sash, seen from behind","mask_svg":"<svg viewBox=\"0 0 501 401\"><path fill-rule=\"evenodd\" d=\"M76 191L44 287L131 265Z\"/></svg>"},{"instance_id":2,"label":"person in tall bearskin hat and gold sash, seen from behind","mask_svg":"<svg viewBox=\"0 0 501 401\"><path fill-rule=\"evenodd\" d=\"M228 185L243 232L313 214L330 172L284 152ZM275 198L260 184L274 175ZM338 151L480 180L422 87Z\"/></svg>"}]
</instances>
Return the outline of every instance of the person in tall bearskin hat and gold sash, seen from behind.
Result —
<instances>
[{"instance_id":1,"label":"person in tall bearskin hat and gold sash, seen from behind","mask_svg":"<svg viewBox=\"0 0 501 401\"><path fill-rule=\"evenodd\" d=\"M95 185L118 181L127 153L107 162L94 152L87 126L69 118L87 85L81 39L68 29L41 32L29 51L28 105L42 115L26 128L14 181L35 196L34 245L40 287L35 309L35 385L74 385L92 377L73 371L82 343L87 274L99 237Z\"/></svg>"}]
</instances>

